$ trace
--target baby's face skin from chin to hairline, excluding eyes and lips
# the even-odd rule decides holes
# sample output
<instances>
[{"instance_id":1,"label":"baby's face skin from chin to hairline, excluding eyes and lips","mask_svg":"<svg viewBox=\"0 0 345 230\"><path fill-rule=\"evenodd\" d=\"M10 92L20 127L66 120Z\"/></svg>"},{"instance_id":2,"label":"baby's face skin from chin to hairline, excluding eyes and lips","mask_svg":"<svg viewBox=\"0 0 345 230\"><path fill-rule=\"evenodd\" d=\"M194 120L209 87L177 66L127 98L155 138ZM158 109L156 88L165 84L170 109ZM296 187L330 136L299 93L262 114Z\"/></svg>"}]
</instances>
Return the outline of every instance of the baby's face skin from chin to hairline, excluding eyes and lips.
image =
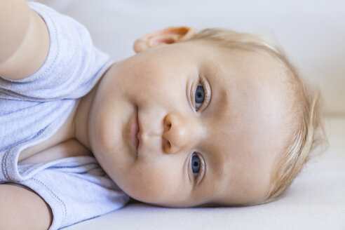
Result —
<instances>
[{"instance_id":1,"label":"baby's face skin from chin to hairline, excluding eyes and lips","mask_svg":"<svg viewBox=\"0 0 345 230\"><path fill-rule=\"evenodd\" d=\"M205 41L147 48L109 68L84 98L88 129L77 122L77 138L138 201L181 208L260 201L286 145L282 74L268 55ZM196 110L201 82L210 98ZM204 164L200 175L191 170L193 153Z\"/></svg>"}]
</instances>

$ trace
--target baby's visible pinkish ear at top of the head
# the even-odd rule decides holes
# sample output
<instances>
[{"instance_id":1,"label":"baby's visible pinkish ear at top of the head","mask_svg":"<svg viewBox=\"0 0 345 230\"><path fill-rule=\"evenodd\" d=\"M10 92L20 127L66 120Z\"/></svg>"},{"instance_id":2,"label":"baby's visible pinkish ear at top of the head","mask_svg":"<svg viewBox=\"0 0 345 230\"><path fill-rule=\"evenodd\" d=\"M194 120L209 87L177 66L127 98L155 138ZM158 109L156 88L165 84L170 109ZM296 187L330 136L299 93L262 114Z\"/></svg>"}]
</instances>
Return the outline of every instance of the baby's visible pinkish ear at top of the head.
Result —
<instances>
[{"instance_id":1,"label":"baby's visible pinkish ear at top of the head","mask_svg":"<svg viewBox=\"0 0 345 230\"><path fill-rule=\"evenodd\" d=\"M134 42L133 49L135 53L140 53L152 47L187 41L195 34L195 29L191 27L168 27L137 39Z\"/></svg>"}]
</instances>

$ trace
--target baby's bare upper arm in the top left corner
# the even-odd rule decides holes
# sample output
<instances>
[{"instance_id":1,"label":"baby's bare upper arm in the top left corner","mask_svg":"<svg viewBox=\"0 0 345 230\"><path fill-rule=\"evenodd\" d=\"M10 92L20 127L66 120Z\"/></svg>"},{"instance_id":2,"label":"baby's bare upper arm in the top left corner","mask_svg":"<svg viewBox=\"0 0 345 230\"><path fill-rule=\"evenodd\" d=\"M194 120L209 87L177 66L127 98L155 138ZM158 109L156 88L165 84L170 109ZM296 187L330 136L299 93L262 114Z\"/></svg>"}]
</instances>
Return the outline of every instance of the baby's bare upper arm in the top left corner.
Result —
<instances>
[{"instance_id":1,"label":"baby's bare upper arm in the top left corner","mask_svg":"<svg viewBox=\"0 0 345 230\"><path fill-rule=\"evenodd\" d=\"M23 79L43 65L49 34L26 0L0 0L0 76Z\"/></svg>"}]
</instances>

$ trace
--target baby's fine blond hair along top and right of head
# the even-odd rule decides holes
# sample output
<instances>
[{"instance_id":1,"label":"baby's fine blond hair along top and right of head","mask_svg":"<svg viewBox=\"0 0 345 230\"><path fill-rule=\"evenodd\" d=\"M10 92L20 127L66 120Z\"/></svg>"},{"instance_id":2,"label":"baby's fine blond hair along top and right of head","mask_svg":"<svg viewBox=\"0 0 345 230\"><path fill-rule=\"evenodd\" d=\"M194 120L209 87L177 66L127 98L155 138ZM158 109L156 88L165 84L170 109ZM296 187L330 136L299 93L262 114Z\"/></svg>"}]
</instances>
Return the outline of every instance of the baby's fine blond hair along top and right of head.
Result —
<instances>
[{"instance_id":1,"label":"baby's fine blond hair along top and right of head","mask_svg":"<svg viewBox=\"0 0 345 230\"><path fill-rule=\"evenodd\" d=\"M297 69L275 42L258 34L234 32L229 29L203 29L192 40L210 41L222 48L269 54L291 73L288 74L290 75L288 82L295 93L294 111L292 111L292 118L295 119L293 135L288 140L288 147L283 149L283 157L275 172L271 175L270 188L266 197L262 201L248 205L276 200L288 189L305 163L309 161L311 151L321 144L328 143L323 126L320 90L306 79L302 79Z\"/></svg>"}]
</instances>

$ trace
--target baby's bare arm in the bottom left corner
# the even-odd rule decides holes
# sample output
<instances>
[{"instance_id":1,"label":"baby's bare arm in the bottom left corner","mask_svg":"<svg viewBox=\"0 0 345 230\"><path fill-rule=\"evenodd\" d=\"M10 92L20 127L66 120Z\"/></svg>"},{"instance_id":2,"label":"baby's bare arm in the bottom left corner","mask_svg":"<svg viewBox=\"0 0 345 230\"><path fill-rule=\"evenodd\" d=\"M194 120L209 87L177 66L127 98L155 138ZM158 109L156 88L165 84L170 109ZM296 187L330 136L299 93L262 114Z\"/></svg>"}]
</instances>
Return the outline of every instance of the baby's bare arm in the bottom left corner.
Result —
<instances>
[{"instance_id":1,"label":"baby's bare arm in the bottom left corner","mask_svg":"<svg viewBox=\"0 0 345 230\"><path fill-rule=\"evenodd\" d=\"M52 218L49 206L34 191L0 184L0 229L48 229Z\"/></svg>"}]
</instances>

